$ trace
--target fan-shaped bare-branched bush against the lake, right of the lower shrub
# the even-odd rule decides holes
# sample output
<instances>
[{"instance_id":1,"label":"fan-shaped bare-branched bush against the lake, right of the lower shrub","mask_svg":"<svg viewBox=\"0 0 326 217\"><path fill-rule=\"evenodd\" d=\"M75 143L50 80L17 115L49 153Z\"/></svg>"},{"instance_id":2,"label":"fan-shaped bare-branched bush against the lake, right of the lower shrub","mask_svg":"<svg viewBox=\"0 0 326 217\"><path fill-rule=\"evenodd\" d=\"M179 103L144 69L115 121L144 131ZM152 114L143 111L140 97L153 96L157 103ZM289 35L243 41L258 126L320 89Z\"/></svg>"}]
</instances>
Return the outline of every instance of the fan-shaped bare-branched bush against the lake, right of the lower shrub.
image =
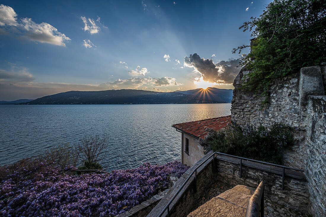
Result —
<instances>
[{"instance_id":1,"label":"fan-shaped bare-branched bush against the lake, right of the lower shrub","mask_svg":"<svg viewBox=\"0 0 326 217\"><path fill-rule=\"evenodd\" d=\"M100 137L99 135L83 136L77 145L77 150L83 162L97 163L101 154L102 159L105 158L103 151L108 146L108 137Z\"/></svg>"}]
</instances>

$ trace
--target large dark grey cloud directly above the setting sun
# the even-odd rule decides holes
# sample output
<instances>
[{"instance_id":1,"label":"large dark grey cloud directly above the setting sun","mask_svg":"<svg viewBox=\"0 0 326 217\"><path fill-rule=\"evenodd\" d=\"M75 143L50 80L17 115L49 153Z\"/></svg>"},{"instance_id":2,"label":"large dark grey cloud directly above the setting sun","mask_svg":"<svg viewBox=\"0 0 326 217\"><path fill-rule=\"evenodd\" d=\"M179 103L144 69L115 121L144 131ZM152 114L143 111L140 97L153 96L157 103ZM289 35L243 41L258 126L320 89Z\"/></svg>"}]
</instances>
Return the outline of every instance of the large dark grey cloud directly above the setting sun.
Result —
<instances>
[{"instance_id":1,"label":"large dark grey cloud directly above the setting sun","mask_svg":"<svg viewBox=\"0 0 326 217\"><path fill-rule=\"evenodd\" d=\"M212 59L204 59L200 58L198 54L190 54L189 57L185 57L184 65L194 68L201 74L204 81L231 84L240 71L240 68L236 67L239 61L240 58L229 59L214 64Z\"/></svg>"}]
</instances>

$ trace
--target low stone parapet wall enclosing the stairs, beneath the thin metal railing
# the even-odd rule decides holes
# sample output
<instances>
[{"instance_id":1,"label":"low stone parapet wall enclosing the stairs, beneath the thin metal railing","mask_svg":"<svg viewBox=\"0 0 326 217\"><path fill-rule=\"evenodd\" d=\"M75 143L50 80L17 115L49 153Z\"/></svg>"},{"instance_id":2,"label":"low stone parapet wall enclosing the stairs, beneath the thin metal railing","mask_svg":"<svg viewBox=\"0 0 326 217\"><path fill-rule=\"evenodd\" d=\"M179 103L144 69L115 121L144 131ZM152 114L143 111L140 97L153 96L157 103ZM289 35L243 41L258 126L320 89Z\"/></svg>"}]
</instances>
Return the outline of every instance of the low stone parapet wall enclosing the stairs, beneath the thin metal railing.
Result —
<instances>
[{"instance_id":1,"label":"low stone parapet wall enclosing the stairs, beneath the thin metal railing","mask_svg":"<svg viewBox=\"0 0 326 217\"><path fill-rule=\"evenodd\" d=\"M147 217L157 217L189 177L191 172L212 153L213 151L210 151L185 172ZM212 158L204 163L197 172L196 190L194 188L195 181L193 175L172 201L170 205L171 217L187 216L190 212L197 209L198 202L207 194L206 191L210 189L212 184L216 181L222 181L228 185L233 185L233 187L238 184L243 184L245 186L257 188L260 181L264 180L266 185L265 197L267 199L293 210L307 212L309 207L309 193L306 187L307 181L303 173L286 170L285 189L282 191L282 170L280 168L243 161L243 173L242 178L240 178L239 161L239 159L218 156L215 159L214 172ZM167 212L164 213L163 217L166 216Z\"/></svg>"}]
</instances>

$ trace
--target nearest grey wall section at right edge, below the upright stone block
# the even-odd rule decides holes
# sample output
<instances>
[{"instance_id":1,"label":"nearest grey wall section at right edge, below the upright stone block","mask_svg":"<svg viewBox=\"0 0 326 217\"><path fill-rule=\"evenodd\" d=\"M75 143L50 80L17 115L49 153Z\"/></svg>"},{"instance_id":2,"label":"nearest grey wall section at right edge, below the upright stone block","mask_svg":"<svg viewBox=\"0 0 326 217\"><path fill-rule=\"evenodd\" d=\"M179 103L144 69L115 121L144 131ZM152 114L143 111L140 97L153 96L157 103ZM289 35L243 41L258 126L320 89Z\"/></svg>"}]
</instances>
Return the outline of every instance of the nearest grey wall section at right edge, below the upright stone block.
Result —
<instances>
[{"instance_id":1,"label":"nearest grey wall section at right edge, below the upright stone block","mask_svg":"<svg viewBox=\"0 0 326 217\"><path fill-rule=\"evenodd\" d=\"M326 96L310 96L307 109L305 171L312 213L326 216Z\"/></svg>"}]
</instances>

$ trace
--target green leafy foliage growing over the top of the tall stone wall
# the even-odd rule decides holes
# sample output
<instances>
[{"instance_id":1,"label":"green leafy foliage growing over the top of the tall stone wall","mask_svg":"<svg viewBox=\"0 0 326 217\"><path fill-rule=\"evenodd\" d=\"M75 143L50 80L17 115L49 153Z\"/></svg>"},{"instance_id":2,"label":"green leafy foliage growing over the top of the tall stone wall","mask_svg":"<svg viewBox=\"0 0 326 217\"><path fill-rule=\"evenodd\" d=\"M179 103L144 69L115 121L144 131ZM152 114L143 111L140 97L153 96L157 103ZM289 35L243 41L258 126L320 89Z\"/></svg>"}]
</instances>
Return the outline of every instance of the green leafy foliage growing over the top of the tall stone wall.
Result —
<instances>
[{"instance_id":1,"label":"green leafy foliage growing over the top of the tall stone wall","mask_svg":"<svg viewBox=\"0 0 326 217\"><path fill-rule=\"evenodd\" d=\"M256 37L250 54L243 54L240 66L253 70L243 84L250 90L263 90L267 96L271 81L302 67L326 61L326 1L274 0L259 18L251 17L239 28ZM249 47L243 45L233 53Z\"/></svg>"}]
</instances>

